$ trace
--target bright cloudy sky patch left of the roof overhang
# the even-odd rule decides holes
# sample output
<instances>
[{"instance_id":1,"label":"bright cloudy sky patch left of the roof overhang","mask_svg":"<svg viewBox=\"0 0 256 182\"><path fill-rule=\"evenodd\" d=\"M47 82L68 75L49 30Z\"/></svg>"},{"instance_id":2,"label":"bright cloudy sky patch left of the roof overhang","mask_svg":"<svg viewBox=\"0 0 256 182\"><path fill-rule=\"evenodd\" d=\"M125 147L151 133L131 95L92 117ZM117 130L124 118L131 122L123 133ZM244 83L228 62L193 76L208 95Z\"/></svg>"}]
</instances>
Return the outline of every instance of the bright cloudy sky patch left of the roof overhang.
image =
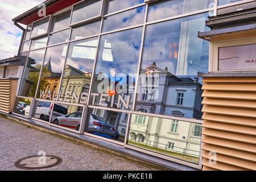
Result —
<instances>
[{"instance_id":1,"label":"bright cloudy sky patch left of the roof overhang","mask_svg":"<svg viewBox=\"0 0 256 182\"><path fill-rule=\"evenodd\" d=\"M44 0L0 0L0 59L13 57L19 49L22 31L12 19L42 2Z\"/></svg>"}]
</instances>

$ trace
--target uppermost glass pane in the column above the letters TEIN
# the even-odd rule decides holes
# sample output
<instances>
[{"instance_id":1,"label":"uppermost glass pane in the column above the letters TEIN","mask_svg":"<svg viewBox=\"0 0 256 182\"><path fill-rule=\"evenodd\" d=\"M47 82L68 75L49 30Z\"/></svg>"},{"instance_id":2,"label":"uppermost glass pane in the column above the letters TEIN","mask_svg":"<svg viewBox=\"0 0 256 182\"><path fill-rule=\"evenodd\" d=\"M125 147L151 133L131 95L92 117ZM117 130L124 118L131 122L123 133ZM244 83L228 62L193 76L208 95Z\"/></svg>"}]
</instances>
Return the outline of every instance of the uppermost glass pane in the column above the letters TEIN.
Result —
<instances>
[{"instance_id":1,"label":"uppermost glass pane in the column above the letters TEIN","mask_svg":"<svg viewBox=\"0 0 256 182\"><path fill-rule=\"evenodd\" d=\"M105 12L106 14L114 13L115 11L126 9L131 6L139 5L140 3L143 3L143 2L144 0L129 0L129 1L107 0Z\"/></svg>"}]
</instances>

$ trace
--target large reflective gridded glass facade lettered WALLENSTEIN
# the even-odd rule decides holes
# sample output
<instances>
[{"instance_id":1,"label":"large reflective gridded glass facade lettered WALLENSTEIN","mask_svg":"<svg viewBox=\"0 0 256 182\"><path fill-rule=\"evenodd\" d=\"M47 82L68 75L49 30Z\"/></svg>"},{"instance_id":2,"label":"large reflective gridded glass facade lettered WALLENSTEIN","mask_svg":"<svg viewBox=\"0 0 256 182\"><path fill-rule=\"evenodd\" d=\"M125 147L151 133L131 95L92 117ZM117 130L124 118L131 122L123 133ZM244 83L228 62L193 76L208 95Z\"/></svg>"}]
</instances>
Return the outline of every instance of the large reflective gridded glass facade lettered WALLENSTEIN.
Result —
<instances>
[{"instance_id":1,"label":"large reflective gridded glass facade lettered WALLENSTEIN","mask_svg":"<svg viewBox=\"0 0 256 182\"><path fill-rule=\"evenodd\" d=\"M226 3L80 1L28 24L13 112L198 168L209 42L197 34Z\"/></svg>"}]
</instances>

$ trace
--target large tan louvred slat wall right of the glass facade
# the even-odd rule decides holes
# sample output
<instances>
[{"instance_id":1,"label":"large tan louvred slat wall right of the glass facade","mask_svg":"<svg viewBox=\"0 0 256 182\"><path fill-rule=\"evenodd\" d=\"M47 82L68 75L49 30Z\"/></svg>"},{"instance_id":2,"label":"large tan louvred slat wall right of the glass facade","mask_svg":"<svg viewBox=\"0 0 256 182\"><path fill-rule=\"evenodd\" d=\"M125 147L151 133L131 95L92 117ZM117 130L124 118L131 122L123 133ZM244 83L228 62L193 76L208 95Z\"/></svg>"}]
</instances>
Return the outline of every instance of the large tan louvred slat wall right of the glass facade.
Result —
<instances>
[{"instance_id":1,"label":"large tan louvred slat wall right of the glass facade","mask_svg":"<svg viewBox=\"0 0 256 182\"><path fill-rule=\"evenodd\" d=\"M256 77L203 82L203 170L256 170Z\"/></svg>"}]
</instances>

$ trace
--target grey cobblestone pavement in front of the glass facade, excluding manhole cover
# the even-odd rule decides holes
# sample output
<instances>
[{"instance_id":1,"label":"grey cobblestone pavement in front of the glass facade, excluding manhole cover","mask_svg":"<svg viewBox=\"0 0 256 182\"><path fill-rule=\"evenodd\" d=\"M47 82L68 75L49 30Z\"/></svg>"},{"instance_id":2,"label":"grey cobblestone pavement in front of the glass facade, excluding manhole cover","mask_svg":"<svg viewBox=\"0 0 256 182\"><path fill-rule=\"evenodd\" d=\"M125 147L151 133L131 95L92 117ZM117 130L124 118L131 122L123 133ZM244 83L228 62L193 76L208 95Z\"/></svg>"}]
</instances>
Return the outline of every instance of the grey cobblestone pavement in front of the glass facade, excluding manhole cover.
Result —
<instances>
[{"instance_id":1,"label":"grey cobblestone pavement in front of the glass facade, excluding manhole cover","mask_svg":"<svg viewBox=\"0 0 256 182\"><path fill-rule=\"evenodd\" d=\"M20 170L14 166L16 160L39 151L63 159L44 170L151 170L0 117L0 170Z\"/></svg>"}]
</instances>

